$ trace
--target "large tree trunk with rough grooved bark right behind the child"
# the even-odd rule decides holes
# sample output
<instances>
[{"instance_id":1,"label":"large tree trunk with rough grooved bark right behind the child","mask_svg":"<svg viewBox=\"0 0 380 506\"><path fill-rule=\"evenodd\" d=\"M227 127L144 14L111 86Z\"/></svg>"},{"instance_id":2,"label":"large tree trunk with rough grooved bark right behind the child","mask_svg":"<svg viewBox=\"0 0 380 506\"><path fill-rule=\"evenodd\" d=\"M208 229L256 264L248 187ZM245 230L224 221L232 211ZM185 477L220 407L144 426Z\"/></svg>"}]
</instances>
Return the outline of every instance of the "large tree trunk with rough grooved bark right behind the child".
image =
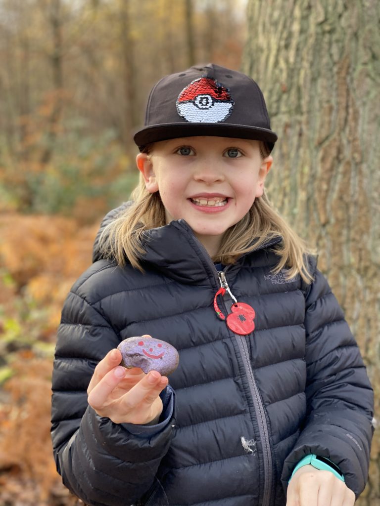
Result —
<instances>
[{"instance_id":1,"label":"large tree trunk with rough grooved bark right behind the child","mask_svg":"<svg viewBox=\"0 0 380 506\"><path fill-rule=\"evenodd\" d=\"M379 413L380 3L249 0L243 71L279 136L269 197L317 246ZM380 433L357 504L380 504Z\"/></svg>"}]
</instances>

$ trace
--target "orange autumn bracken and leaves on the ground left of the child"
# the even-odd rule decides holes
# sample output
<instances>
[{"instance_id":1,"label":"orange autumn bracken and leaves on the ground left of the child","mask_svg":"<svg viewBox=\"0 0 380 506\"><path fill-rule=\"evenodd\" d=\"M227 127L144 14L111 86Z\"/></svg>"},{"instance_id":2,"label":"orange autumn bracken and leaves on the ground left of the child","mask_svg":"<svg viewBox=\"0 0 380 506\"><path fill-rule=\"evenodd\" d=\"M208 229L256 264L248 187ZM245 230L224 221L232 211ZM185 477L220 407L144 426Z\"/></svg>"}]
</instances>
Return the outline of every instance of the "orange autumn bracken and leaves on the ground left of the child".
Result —
<instances>
[{"instance_id":1,"label":"orange autumn bracken and leaves on the ground left of the child","mask_svg":"<svg viewBox=\"0 0 380 506\"><path fill-rule=\"evenodd\" d=\"M0 366L12 370L0 386L0 504L83 504L62 485L53 459L51 353L63 301L91 264L99 223L0 215Z\"/></svg>"}]
</instances>

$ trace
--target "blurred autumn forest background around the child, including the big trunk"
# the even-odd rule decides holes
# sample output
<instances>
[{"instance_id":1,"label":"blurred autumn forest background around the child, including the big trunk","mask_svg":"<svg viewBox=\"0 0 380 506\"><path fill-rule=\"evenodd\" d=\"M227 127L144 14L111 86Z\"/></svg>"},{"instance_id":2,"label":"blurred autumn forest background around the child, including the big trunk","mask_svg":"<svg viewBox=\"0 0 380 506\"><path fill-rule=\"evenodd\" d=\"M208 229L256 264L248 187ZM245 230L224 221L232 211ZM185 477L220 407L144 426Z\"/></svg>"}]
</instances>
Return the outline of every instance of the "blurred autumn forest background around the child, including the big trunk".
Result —
<instances>
[{"instance_id":1,"label":"blurred autumn forest background around the child, including the big trunk","mask_svg":"<svg viewBox=\"0 0 380 506\"><path fill-rule=\"evenodd\" d=\"M319 248L322 270L329 274L376 384L378 407L378 257L374 260L374 252L365 257L357 246L350 249L352 254L342 256L339 252L347 241L360 243L357 237L350 239L355 216L361 218L355 226L370 239L372 251L378 248L378 228L372 226L378 223L374 214L378 203L371 207L378 185L368 182L365 154L359 155L360 146L355 145L353 158L371 188L363 186L359 177L345 184L351 193L366 193L368 216L363 221L358 206L351 209L341 194L331 205L331 185L344 183L347 174L343 150L336 146L355 137L358 114L347 112L351 103L342 103L342 93L334 97L333 82L331 89L320 87L320 95L326 99L321 107L311 103L313 83L323 81L316 67L318 55L310 59L307 42L314 45L318 34L321 40L328 40L331 34L338 40L339 30L346 30L339 39L345 49L331 51L332 69L338 70L338 85L347 90L343 95L351 96L355 79L344 76L356 65L351 57L351 53L356 55L352 43L359 47L364 33L379 40L370 30L377 23L378 32L379 10L372 9L375 4L370 0L0 0L2 506L81 503L61 484L50 442L52 359L62 304L72 283L91 263L92 242L102 217L128 199L137 180L132 136L143 122L151 86L163 75L194 63L212 61L243 69L269 97L273 129L282 140L277 153L274 151L273 172L281 165L279 187L285 185L278 193L278 207ZM352 9L362 24L352 21L356 19ZM284 12L292 15L286 18ZM354 36L348 30L352 26ZM302 37L306 37L305 43ZM347 37L350 42L346 44ZM331 47L334 44L337 42ZM377 117L371 126L378 144L380 45L368 46L369 59L374 61L370 85L354 91L359 102L367 104L362 108L369 109L367 121ZM318 51L318 44L315 48ZM305 79L309 70L310 86L299 87L297 79ZM294 83L297 86L291 86ZM313 116L331 114L333 119L324 124L330 128L336 123L344 139L338 142L328 133L322 140L310 140L305 135L307 111L297 103L299 97L305 97L302 104L308 103ZM328 97L333 97L332 102L328 103ZM347 117L340 121L342 107ZM321 129L317 134L322 135ZM332 141L335 151L330 158L336 164L329 163L325 150L331 154ZM318 156L314 161L306 155L299 157L300 147L309 156L318 149ZM287 158L291 160L286 162ZM302 166L296 173L297 163ZM320 186L316 189L311 181ZM276 191L274 180L269 181L269 190L271 197ZM318 193L318 203L310 192ZM342 224L347 217L351 221ZM336 223L341 225L338 231L333 228ZM355 300L357 286L361 291ZM358 504L380 503L379 469L375 433L370 480Z\"/></svg>"}]
</instances>

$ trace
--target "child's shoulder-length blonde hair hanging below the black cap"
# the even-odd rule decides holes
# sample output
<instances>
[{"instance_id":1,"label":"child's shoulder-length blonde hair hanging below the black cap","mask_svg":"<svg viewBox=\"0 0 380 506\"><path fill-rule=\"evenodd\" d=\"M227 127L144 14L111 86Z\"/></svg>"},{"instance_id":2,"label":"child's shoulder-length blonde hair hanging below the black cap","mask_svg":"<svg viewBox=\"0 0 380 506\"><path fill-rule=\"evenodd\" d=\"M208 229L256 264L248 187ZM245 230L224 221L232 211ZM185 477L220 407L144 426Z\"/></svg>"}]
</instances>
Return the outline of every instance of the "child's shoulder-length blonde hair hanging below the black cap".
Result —
<instances>
[{"instance_id":1,"label":"child's shoulder-length blonde hair hanging below the black cap","mask_svg":"<svg viewBox=\"0 0 380 506\"><path fill-rule=\"evenodd\" d=\"M151 146L143 149L146 153L150 151ZM269 154L265 145L260 146L260 152L263 157ZM140 259L145 254L144 233L166 225L165 208L159 192L147 191L141 174L131 198L131 205L104 228L99 244L106 258L115 259L119 265L124 265L127 258L134 268L143 272ZM286 279L299 274L306 283L311 283L313 276L309 272L307 256L314 251L281 218L265 192L254 200L249 212L238 223L226 230L220 250L212 260L234 264L241 255L279 236L282 241L274 246L279 261L273 274L286 269Z\"/></svg>"}]
</instances>

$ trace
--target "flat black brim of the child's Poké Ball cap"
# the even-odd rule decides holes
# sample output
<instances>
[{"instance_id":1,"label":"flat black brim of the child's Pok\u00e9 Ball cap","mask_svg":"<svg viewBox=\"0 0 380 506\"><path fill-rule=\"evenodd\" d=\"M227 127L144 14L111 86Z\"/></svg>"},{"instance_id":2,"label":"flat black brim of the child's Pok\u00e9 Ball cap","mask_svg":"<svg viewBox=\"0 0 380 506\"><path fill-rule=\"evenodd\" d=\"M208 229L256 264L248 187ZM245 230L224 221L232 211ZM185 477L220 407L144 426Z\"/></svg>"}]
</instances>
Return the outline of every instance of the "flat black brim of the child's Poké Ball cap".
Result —
<instances>
[{"instance_id":1,"label":"flat black brim of the child's Pok\u00e9 Ball cap","mask_svg":"<svg viewBox=\"0 0 380 506\"><path fill-rule=\"evenodd\" d=\"M143 149L147 144L167 141L177 137L196 136L232 137L235 139L252 139L267 143L272 151L277 135L275 132L258 126L235 125L226 123L170 123L146 126L138 131L133 140Z\"/></svg>"}]
</instances>

